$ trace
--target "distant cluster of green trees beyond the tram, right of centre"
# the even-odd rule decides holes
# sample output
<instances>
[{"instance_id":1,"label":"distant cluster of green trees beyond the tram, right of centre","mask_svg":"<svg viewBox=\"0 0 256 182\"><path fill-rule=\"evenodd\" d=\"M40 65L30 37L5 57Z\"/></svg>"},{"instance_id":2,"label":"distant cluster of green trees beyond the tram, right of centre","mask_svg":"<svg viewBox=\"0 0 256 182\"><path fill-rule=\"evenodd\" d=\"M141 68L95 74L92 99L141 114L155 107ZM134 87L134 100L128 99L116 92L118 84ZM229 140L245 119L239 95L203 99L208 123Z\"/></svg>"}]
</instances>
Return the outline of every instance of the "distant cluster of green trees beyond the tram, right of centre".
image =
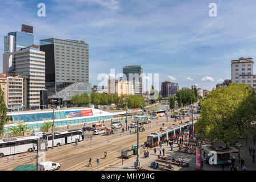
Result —
<instances>
[{"instance_id":1,"label":"distant cluster of green trees beyond the tram, right of centre","mask_svg":"<svg viewBox=\"0 0 256 182\"><path fill-rule=\"evenodd\" d=\"M175 101L178 102L179 107L184 105L189 105L196 102L199 98L202 98L198 95L197 89L192 85L190 88L182 88L176 94L176 96L169 96L169 105L170 109L175 108Z\"/></svg>"}]
</instances>

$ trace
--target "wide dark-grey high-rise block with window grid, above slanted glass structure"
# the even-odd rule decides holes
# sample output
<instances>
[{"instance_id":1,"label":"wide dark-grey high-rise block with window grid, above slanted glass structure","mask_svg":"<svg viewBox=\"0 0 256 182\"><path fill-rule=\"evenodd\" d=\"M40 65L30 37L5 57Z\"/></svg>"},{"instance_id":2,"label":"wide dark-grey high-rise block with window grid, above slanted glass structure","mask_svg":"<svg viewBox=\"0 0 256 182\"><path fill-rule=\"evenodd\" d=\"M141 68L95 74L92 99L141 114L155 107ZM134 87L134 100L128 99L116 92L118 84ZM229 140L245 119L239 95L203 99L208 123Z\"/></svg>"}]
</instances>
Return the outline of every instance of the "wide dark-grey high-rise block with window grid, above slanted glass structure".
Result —
<instances>
[{"instance_id":1,"label":"wide dark-grey high-rise block with window grid, above slanted glass structure","mask_svg":"<svg viewBox=\"0 0 256 182\"><path fill-rule=\"evenodd\" d=\"M46 89L49 96L74 82L82 81L90 85L87 43L57 38L44 39L40 40L40 51L45 52Z\"/></svg>"}]
</instances>

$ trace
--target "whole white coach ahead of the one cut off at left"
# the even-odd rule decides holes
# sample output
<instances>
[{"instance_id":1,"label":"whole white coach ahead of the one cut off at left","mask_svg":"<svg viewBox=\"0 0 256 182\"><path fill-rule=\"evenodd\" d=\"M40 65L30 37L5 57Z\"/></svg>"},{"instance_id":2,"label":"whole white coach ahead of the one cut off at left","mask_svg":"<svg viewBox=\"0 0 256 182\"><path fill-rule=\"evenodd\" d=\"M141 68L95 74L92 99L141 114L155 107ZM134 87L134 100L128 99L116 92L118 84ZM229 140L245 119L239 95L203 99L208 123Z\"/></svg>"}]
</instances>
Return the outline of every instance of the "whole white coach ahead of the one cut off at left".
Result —
<instances>
[{"instance_id":1,"label":"whole white coach ahead of the one cut off at left","mask_svg":"<svg viewBox=\"0 0 256 182\"><path fill-rule=\"evenodd\" d=\"M43 135L43 139L47 139L47 147L53 147L52 134ZM83 130L68 130L55 132L54 146L62 146L63 144L73 143L76 139L78 139L78 142L84 139Z\"/></svg>"}]
</instances>

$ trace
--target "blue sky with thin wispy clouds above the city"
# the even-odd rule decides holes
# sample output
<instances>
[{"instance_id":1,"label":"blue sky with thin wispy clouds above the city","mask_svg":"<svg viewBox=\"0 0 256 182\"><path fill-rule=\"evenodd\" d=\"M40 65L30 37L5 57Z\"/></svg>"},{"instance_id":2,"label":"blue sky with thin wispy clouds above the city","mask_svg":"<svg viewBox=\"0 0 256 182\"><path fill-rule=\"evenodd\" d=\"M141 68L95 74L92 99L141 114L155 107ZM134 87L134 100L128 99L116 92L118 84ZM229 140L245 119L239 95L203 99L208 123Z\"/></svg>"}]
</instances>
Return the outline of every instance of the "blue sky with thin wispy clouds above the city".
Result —
<instances>
[{"instance_id":1,"label":"blue sky with thin wispy clouds above the city","mask_svg":"<svg viewBox=\"0 0 256 182\"><path fill-rule=\"evenodd\" d=\"M45 3L46 17L37 16L38 3ZM210 3L218 5L217 17L209 16ZM211 90L231 78L231 60L256 58L255 6L254 0L5 0L0 52L7 32L29 24L35 44L86 38L93 85L110 68L121 73L123 65L142 65L146 74L159 73L160 83ZM2 56L0 63L2 72Z\"/></svg>"}]
</instances>

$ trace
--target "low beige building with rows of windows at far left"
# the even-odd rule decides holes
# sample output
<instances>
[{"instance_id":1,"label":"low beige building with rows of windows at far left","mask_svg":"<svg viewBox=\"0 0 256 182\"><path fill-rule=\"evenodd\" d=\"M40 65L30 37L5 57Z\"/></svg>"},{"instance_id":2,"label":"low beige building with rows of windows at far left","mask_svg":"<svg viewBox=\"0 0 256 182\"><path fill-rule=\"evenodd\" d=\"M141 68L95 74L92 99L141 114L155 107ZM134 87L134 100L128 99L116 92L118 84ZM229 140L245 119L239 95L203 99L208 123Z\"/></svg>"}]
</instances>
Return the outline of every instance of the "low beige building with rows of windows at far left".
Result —
<instances>
[{"instance_id":1,"label":"low beige building with rows of windows at far left","mask_svg":"<svg viewBox=\"0 0 256 182\"><path fill-rule=\"evenodd\" d=\"M23 78L0 74L0 85L5 94L5 104L8 111L21 111L23 109Z\"/></svg>"}]
</instances>

